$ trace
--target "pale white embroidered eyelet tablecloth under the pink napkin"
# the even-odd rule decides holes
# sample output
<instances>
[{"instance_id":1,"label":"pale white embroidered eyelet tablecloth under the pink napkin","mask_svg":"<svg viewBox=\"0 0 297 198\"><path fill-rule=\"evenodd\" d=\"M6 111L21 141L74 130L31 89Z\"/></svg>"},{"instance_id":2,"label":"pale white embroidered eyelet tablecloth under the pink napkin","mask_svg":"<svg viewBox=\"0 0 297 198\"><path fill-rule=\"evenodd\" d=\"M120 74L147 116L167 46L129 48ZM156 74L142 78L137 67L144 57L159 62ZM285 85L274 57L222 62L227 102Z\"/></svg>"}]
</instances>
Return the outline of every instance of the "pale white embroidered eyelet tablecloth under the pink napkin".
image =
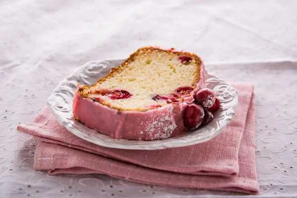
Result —
<instances>
[{"instance_id":1,"label":"pale white embroidered eyelet tablecloth under the pink napkin","mask_svg":"<svg viewBox=\"0 0 297 198\"><path fill-rule=\"evenodd\" d=\"M69 71L149 45L195 52L224 80L255 85L255 197L297 197L296 8L295 0L0 1L0 197L240 196L33 170L36 142L16 126L34 119Z\"/></svg>"}]
</instances>

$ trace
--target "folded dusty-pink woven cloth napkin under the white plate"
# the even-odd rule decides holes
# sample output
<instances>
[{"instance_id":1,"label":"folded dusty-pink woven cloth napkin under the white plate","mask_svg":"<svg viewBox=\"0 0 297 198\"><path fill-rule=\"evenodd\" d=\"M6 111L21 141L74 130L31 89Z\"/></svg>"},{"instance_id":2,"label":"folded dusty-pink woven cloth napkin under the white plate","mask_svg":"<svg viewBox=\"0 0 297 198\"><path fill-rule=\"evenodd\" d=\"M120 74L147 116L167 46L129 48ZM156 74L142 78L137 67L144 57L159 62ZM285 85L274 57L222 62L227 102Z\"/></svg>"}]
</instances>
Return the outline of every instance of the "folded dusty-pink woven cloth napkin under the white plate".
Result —
<instances>
[{"instance_id":1,"label":"folded dusty-pink woven cloth napkin under the white plate","mask_svg":"<svg viewBox=\"0 0 297 198\"><path fill-rule=\"evenodd\" d=\"M239 104L232 122L210 141L188 147L100 147L67 131L48 108L17 130L40 140L34 169L48 170L50 175L99 173L150 185L257 194L253 86L234 83L233 87L239 91Z\"/></svg>"}]
</instances>

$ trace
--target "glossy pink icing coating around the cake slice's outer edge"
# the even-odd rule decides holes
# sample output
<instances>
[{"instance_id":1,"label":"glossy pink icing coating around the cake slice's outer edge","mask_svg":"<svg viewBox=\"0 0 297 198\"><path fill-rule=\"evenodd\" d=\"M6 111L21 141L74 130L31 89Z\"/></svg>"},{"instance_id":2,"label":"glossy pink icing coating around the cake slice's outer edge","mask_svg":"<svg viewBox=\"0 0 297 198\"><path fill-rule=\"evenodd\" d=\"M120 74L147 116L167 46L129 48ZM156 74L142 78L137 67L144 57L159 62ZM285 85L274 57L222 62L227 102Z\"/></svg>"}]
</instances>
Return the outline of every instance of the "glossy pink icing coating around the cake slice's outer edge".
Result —
<instances>
[{"instance_id":1,"label":"glossy pink icing coating around the cake slice's outer edge","mask_svg":"<svg viewBox=\"0 0 297 198\"><path fill-rule=\"evenodd\" d=\"M201 58L200 58L201 59ZM184 112L194 101L195 94L205 87L204 63L201 60L200 78L191 95L182 102L168 104L144 112L118 111L99 102L81 97L73 99L73 115L87 127L115 139L160 140L187 132Z\"/></svg>"}]
</instances>

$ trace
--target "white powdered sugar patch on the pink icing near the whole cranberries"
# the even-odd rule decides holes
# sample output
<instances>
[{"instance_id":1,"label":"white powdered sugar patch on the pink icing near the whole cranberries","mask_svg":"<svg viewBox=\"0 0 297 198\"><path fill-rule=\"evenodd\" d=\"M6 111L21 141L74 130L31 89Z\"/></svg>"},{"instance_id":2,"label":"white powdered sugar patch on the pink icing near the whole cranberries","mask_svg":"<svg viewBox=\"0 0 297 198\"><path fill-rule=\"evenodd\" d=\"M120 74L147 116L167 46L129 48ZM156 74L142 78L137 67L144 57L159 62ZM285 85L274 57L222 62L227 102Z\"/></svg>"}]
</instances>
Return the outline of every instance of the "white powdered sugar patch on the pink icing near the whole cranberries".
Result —
<instances>
[{"instance_id":1,"label":"white powdered sugar patch on the pink icing near the whole cranberries","mask_svg":"<svg viewBox=\"0 0 297 198\"><path fill-rule=\"evenodd\" d=\"M151 140L169 138L177 127L174 120L173 106L170 106L161 114L151 115L152 122L148 124L146 130Z\"/></svg>"}]
</instances>

